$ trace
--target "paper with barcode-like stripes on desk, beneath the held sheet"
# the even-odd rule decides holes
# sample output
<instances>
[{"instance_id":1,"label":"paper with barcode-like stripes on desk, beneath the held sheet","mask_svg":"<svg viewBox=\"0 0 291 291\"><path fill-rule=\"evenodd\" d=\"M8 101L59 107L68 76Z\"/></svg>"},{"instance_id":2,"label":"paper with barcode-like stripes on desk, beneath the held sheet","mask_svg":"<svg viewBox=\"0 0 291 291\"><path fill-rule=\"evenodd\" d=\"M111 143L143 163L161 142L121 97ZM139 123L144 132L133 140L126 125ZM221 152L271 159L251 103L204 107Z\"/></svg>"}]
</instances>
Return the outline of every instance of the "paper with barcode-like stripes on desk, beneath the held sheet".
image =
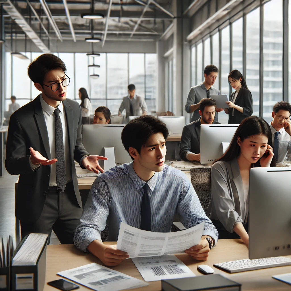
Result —
<instances>
[{"instance_id":1,"label":"paper with barcode-like stripes on desk, beneath the held sheet","mask_svg":"<svg viewBox=\"0 0 291 291\"><path fill-rule=\"evenodd\" d=\"M195 274L174 255L133 258L134 265L149 281L194 277Z\"/></svg>"}]
</instances>

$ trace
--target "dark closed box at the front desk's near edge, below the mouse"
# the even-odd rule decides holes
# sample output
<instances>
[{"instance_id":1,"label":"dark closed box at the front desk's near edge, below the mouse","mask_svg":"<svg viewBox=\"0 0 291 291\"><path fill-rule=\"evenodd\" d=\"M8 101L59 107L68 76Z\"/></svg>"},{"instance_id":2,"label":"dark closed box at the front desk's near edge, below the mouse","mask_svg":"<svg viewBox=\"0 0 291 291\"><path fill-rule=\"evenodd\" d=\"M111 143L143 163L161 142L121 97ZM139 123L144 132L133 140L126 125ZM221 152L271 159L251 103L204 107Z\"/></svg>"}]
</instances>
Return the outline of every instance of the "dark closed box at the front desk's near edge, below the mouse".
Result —
<instances>
[{"instance_id":1,"label":"dark closed box at the front desk's near edge, below the mouse","mask_svg":"<svg viewBox=\"0 0 291 291\"><path fill-rule=\"evenodd\" d=\"M241 285L219 274L162 280L163 291L240 291Z\"/></svg>"}]
</instances>

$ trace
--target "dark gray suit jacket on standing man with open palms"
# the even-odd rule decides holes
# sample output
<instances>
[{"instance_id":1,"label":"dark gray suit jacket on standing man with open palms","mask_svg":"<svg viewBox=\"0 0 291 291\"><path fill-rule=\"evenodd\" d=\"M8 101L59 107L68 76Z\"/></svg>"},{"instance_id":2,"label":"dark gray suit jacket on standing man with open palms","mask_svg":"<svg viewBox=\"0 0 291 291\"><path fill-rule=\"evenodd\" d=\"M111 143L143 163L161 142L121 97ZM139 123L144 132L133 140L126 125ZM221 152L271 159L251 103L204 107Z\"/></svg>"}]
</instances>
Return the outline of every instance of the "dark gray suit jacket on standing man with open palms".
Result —
<instances>
[{"instance_id":1,"label":"dark gray suit jacket on standing man with open palms","mask_svg":"<svg viewBox=\"0 0 291 291\"><path fill-rule=\"evenodd\" d=\"M82 157L88 155L82 144L81 107L70 99L63 101L67 119L68 140L71 159L72 182L78 204L82 207L74 160L80 166ZM40 152L51 159L49 137L40 95L15 111L9 121L5 166L11 175L19 175L15 197L15 216L21 221L33 223L38 220L45 205L49 188L50 166L40 166L33 171L29 165L30 151Z\"/></svg>"}]
</instances>

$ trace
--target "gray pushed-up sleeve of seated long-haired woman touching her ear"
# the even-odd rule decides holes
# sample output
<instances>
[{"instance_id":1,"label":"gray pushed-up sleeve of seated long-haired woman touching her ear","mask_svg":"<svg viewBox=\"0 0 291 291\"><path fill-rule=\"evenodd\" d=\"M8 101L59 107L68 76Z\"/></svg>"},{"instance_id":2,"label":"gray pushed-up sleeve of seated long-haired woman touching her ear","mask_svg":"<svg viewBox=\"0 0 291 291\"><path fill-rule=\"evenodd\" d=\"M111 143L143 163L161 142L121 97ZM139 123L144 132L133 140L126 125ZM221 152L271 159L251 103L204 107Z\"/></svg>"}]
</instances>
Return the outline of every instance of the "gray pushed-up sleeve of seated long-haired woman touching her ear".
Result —
<instances>
[{"instance_id":1,"label":"gray pushed-up sleeve of seated long-haired woman touching her ear","mask_svg":"<svg viewBox=\"0 0 291 291\"><path fill-rule=\"evenodd\" d=\"M235 223L243 222L235 211L233 199L230 196L227 175L220 164L215 163L211 169L211 196L218 220L224 228L232 233Z\"/></svg>"}]
</instances>

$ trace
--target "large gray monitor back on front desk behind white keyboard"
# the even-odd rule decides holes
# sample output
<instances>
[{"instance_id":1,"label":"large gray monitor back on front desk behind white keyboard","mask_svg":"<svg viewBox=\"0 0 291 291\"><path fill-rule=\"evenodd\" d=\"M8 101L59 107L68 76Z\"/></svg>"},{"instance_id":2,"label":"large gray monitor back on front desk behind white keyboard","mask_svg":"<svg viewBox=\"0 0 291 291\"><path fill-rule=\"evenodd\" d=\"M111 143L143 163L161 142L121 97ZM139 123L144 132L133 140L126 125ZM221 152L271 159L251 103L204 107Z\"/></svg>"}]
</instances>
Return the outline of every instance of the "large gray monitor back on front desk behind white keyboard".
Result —
<instances>
[{"instance_id":1,"label":"large gray monitor back on front desk behind white keyboard","mask_svg":"<svg viewBox=\"0 0 291 291\"><path fill-rule=\"evenodd\" d=\"M251 168L249 258L291 255L291 167Z\"/></svg>"}]
</instances>

